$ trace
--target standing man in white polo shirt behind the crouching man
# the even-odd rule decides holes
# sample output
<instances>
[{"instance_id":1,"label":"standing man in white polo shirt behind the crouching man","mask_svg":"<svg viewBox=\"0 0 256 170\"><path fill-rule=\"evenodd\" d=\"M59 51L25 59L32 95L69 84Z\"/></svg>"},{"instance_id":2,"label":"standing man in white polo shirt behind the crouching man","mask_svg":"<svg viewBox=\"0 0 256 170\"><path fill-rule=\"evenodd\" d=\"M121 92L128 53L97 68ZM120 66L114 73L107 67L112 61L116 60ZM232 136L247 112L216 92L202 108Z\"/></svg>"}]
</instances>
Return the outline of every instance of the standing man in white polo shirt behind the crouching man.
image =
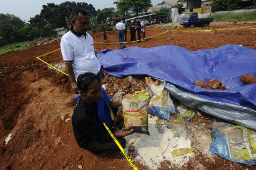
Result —
<instances>
[{"instance_id":1,"label":"standing man in white polo shirt behind the crouching man","mask_svg":"<svg viewBox=\"0 0 256 170\"><path fill-rule=\"evenodd\" d=\"M61 38L61 53L66 65L71 87L78 94L77 77L84 72L92 72L101 80L101 65L95 54L92 37L86 33L89 27L89 16L81 8L72 11L73 28Z\"/></svg>"}]
</instances>

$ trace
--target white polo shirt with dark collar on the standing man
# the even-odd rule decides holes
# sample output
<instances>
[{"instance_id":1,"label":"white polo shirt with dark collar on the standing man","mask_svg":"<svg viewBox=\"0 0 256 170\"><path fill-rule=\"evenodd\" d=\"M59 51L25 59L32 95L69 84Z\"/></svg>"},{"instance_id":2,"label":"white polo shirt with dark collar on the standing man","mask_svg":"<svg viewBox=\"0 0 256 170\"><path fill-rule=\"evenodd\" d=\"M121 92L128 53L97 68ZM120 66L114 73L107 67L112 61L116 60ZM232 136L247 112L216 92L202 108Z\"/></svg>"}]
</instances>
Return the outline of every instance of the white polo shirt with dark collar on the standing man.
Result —
<instances>
[{"instance_id":1,"label":"white polo shirt with dark collar on the standing man","mask_svg":"<svg viewBox=\"0 0 256 170\"><path fill-rule=\"evenodd\" d=\"M97 74L101 70L94 54L93 39L88 33L81 35L71 29L64 34L61 38L61 53L64 63L72 62L76 78L84 72Z\"/></svg>"}]
</instances>

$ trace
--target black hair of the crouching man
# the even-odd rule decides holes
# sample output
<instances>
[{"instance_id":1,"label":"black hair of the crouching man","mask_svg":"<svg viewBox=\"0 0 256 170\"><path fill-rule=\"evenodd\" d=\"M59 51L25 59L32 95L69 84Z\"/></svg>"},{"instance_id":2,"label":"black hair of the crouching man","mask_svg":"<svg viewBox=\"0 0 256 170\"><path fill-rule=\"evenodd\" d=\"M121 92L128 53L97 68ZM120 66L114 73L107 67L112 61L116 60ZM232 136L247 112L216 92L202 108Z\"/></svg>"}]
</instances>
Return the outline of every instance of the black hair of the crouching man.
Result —
<instances>
[{"instance_id":1,"label":"black hair of the crouching man","mask_svg":"<svg viewBox=\"0 0 256 170\"><path fill-rule=\"evenodd\" d=\"M82 79L86 76L89 76L90 78L87 81L83 81ZM97 81L100 83L100 79L96 74L93 74L91 72L85 72L84 74L80 74L77 78L78 89L87 92L88 86L90 86L91 82L95 79L97 79Z\"/></svg>"}]
</instances>

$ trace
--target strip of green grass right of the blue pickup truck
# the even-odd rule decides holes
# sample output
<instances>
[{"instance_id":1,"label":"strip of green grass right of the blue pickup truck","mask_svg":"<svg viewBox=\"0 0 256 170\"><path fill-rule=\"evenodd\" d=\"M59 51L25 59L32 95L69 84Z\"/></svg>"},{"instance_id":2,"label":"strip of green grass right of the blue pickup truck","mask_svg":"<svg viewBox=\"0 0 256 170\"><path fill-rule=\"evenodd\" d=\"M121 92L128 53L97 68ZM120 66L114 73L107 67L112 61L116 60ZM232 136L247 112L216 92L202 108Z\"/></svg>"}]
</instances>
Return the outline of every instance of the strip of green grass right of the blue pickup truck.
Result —
<instances>
[{"instance_id":1,"label":"strip of green grass right of the blue pickup truck","mask_svg":"<svg viewBox=\"0 0 256 170\"><path fill-rule=\"evenodd\" d=\"M214 21L220 22L246 22L256 21L256 10L245 10L245 12L229 12L229 13L214 13L208 18L214 18Z\"/></svg>"}]
</instances>

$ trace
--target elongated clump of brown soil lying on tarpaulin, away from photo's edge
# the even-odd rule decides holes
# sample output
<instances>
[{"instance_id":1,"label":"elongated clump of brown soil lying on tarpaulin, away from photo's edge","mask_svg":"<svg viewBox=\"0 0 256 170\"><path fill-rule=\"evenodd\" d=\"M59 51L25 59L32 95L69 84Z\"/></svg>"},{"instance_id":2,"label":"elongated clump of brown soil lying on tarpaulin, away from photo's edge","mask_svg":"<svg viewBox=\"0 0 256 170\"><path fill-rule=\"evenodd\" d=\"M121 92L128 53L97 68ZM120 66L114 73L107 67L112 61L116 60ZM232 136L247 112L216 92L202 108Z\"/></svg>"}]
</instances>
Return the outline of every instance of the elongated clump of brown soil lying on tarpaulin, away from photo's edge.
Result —
<instances>
[{"instance_id":1,"label":"elongated clump of brown soil lying on tarpaulin, away from photo's edge","mask_svg":"<svg viewBox=\"0 0 256 170\"><path fill-rule=\"evenodd\" d=\"M211 81L208 81L207 83L201 82L201 81L195 81L196 86L200 86L204 89L217 89L217 90L225 90L226 86L222 86L222 82L220 82L218 79L213 79Z\"/></svg>"}]
</instances>

